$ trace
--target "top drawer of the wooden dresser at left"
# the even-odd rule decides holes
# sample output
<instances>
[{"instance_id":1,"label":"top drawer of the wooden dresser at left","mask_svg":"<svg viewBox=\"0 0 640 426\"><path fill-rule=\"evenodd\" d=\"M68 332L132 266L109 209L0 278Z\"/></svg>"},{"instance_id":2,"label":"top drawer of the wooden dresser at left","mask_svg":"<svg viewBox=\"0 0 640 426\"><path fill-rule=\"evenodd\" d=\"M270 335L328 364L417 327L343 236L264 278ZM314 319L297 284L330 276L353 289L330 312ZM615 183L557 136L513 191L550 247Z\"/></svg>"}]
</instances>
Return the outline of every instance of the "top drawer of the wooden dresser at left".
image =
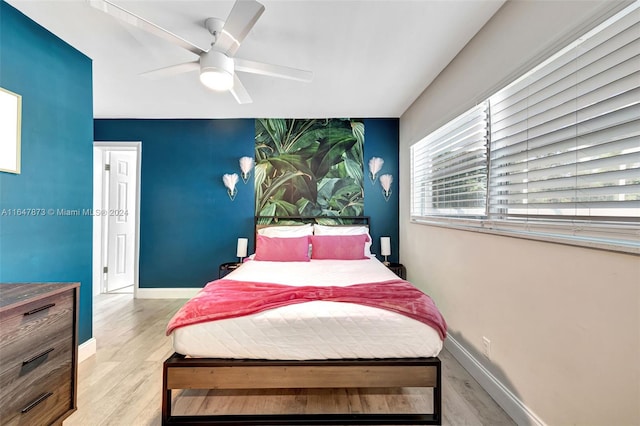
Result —
<instances>
[{"instance_id":1,"label":"top drawer of the wooden dresser at left","mask_svg":"<svg viewBox=\"0 0 640 426\"><path fill-rule=\"evenodd\" d=\"M73 335L71 291L26 303L0 316L0 374ZM4 383L4 382L2 382Z\"/></svg>"}]
</instances>

